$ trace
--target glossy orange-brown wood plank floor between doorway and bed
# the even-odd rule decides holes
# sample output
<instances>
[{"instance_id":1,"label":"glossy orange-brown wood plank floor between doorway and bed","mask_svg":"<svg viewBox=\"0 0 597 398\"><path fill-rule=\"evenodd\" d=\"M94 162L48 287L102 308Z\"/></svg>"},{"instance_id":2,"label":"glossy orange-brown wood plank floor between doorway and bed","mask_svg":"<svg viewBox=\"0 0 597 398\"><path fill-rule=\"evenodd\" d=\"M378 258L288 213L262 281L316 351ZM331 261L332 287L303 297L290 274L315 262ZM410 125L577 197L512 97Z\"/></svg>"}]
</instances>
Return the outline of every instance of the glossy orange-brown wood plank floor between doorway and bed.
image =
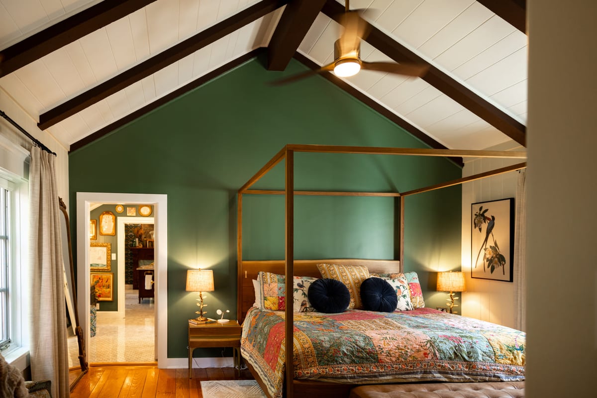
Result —
<instances>
[{"instance_id":1,"label":"glossy orange-brown wood plank floor between doorway and bed","mask_svg":"<svg viewBox=\"0 0 597 398\"><path fill-rule=\"evenodd\" d=\"M253 379L234 368L158 369L157 365L91 366L70 392L71 398L202 398L200 382Z\"/></svg>"}]
</instances>

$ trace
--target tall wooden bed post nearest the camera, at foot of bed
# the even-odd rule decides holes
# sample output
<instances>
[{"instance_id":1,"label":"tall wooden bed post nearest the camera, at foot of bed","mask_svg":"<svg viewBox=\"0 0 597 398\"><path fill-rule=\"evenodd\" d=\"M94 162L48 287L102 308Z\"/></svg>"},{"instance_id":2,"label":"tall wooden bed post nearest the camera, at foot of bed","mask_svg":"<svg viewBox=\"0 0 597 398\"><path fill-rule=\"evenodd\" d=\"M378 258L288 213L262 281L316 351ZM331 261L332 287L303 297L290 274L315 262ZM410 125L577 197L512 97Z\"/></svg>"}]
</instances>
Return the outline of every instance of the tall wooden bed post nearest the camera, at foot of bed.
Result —
<instances>
[{"instance_id":1,"label":"tall wooden bed post nearest the camera, at foot of bed","mask_svg":"<svg viewBox=\"0 0 597 398\"><path fill-rule=\"evenodd\" d=\"M286 208L286 398L293 398L294 387L294 151L286 152L286 183L285 183L285 208Z\"/></svg>"}]
</instances>

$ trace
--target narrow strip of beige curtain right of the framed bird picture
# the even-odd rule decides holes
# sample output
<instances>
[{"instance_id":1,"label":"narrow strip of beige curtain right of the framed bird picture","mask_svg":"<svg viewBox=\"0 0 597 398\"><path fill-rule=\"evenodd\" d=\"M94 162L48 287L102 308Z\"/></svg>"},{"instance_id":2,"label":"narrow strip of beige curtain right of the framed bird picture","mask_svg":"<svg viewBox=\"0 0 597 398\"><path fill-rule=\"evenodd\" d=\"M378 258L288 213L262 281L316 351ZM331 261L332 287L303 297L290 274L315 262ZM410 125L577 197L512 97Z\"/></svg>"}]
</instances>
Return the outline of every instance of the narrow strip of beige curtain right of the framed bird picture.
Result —
<instances>
[{"instance_id":1,"label":"narrow strip of beige curtain right of the framed bird picture","mask_svg":"<svg viewBox=\"0 0 597 398\"><path fill-rule=\"evenodd\" d=\"M521 170L516 185L514 234L514 326L527 331L527 171Z\"/></svg>"}]
</instances>

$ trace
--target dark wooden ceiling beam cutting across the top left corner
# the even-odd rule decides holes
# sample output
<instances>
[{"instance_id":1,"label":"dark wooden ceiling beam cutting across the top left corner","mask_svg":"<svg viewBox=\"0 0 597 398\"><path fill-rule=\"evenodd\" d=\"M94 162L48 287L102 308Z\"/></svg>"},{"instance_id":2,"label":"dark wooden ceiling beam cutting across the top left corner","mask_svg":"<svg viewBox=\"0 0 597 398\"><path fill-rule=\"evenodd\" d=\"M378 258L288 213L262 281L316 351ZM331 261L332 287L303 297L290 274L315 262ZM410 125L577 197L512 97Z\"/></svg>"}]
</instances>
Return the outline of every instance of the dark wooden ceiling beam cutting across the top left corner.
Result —
<instances>
[{"instance_id":1,"label":"dark wooden ceiling beam cutting across the top left corner","mask_svg":"<svg viewBox=\"0 0 597 398\"><path fill-rule=\"evenodd\" d=\"M104 0L0 51L0 78L155 0Z\"/></svg>"}]
</instances>

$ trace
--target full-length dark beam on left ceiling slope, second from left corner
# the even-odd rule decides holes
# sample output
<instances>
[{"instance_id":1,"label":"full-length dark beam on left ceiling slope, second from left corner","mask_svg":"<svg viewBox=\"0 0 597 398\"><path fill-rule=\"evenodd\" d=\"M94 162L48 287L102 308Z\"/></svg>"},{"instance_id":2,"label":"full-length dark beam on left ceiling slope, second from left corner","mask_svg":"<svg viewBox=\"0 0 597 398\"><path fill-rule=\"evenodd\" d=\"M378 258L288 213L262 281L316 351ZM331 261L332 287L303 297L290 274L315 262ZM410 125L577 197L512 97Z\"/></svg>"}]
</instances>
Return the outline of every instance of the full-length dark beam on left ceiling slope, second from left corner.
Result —
<instances>
[{"instance_id":1,"label":"full-length dark beam on left ceiling slope, second from left corner","mask_svg":"<svg viewBox=\"0 0 597 398\"><path fill-rule=\"evenodd\" d=\"M39 115L38 127L45 130L69 116L81 112L81 110L109 97L109 95L158 72L158 70L181 60L187 55L195 53L195 51L212 44L235 30L277 10L287 2L288 1L284 0L261 0L259 3L254 4L249 8L245 8L245 10L234 14L232 17L208 27L208 29L205 29L179 44L154 55L146 61L119 73L119 75L100 83L96 87L92 87L90 90L82 92L59 106L42 113Z\"/></svg>"}]
</instances>

